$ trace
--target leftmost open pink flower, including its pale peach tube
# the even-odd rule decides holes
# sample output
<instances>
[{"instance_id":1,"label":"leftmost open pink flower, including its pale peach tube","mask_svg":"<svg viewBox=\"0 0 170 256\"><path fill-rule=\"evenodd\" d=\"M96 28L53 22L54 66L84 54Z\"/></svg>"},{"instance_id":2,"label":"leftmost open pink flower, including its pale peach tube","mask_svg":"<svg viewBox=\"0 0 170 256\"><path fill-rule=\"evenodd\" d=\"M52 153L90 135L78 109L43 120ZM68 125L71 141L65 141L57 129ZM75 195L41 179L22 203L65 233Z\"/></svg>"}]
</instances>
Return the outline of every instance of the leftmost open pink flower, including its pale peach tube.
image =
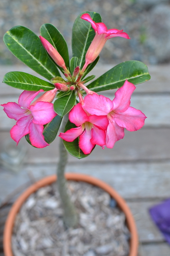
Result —
<instances>
[{"instance_id":1,"label":"leftmost open pink flower, including its pale peach tube","mask_svg":"<svg viewBox=\"0 0 170 256\"><path fill-rule=\"evenodd\" d=\"M29 134L32 146L37 148L44 148L49 144L44 140L43 129L44 124L51 122L51 120L57 115L53 110L52 101L55 97L57 89L54 88L49 92L45 92L35 100L32 104L32 100L44 90L38 92L24 91L21 93L18 99L18 104L15 102L8 102L1 106L4 107L4 111L8 117L17 121L10 131L11 138L18 142L19 140ZM51 93L50 93L51 92Z\"/></svg>"}]
</instances>

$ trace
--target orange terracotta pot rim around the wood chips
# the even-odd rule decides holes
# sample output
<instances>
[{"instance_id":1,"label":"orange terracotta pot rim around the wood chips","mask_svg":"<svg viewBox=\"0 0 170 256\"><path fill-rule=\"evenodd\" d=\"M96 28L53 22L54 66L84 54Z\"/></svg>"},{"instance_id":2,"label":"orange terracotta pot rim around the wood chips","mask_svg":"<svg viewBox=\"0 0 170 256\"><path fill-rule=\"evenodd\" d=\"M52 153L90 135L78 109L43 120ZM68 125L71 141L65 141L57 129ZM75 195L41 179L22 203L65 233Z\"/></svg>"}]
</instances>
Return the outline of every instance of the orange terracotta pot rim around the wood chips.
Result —
<instances>
[{"instance_id":1,"label":"orange terracotta pot rim around the wood chips","mask_svg":"<svg viewBox=\"0 0 170 256\"><path fill-rule=\"evenodd\" d=\"M11 210L8 214L5 228L4 228L4 254L5 256L13 256L12 249L11 249L11 236L12 236L12 229L14 226L15 218L17 213L20 210L21 205L25 202L25 200L35 191L37 191L39 188L47 186L53 182L56 181L56 175L48 176L42 180L39 180L38 182L34 183L32 186L27 188L25 192L18 197L16 202L11 207ZM96 178L93 178L88 175L84 174L78 174L78 173L67 173L66 174L67 180L75 180L75 181L84 181L88 182L92 185L98 186L99 188L102 188L106 192L110 194L116 201L120 209L124 212L126 216L126 222L127 226L131 233L131 239L130 239L130 252L129 256L137 256L138 253L138 234L137 229L135 225L135 221L133 219L132 213L125 203L124 199L117 194L117 192L110 187L105 182L98 180Z\"/></svg>"}]
</instances>

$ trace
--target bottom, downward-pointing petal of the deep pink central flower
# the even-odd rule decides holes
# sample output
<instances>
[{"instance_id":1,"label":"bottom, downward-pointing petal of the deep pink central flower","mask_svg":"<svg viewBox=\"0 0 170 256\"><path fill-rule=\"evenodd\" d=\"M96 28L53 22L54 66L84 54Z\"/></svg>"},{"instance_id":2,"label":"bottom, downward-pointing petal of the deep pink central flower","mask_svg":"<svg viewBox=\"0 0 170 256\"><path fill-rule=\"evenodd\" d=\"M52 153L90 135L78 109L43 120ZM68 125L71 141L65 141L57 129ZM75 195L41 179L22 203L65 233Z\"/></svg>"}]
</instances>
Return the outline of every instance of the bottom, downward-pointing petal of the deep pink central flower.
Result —
<instances>
[{"instance_id":1,"label":"bottom, downward-pointing petal of the deep pink central flower","mask_svg":"<svg viewBox=\"0 0 170 256\"><path fill-rule=\"evenodd\" d=\"M95 147L95 145L92 144L90 140L91 140L91 131L87 133L85 130L83 134L80 135L80 140L79 140L79 147L81 148L81 150L85 155L90 154L92 149Z\"/></svg>"}]
</instances>

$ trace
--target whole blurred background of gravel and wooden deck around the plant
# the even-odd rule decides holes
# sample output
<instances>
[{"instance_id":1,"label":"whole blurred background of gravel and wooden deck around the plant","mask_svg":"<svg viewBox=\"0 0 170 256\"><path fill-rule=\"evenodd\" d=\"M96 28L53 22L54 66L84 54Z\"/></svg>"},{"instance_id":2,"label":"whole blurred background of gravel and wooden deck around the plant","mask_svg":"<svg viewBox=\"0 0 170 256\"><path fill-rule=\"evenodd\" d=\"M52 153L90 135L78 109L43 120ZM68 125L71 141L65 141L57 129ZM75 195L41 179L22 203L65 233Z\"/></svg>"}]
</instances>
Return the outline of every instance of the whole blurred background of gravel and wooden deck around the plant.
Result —
<instances>
[{"instance_id":1,"label":"whole blurred background of gravel and wooden deck around the plant","mask_svg":"<svg viewBox=\"0 0 170 256\"><path fill-rule=\"evenodd\" d=\"M65 37L71 57L72 27L84 11L100 13L108 29L124 29L131 37L131 40L121 37L108 40L91 75L101 76L126 60L147 64L151 80L137 85L131 97L131 106L145 113L147 119L141 130L125 131L124 139L113 149L96 147L89 157L81 160L69 156L67 172L82 172L102 179L125 198L138 227L138 256L170 256L169 245L148 213L150 207L170 197L170 1L0 0L0 80L10 71L24 71L40 77L6 49L3 35L7 30L22 25L39 35L42 24L52 23ZM20 93L1 83L0 103L18 102ZM114 98L114 93L115 90L102 92L110 99ZM31 147L23 138L16 148L16 143L10 139L14 124L15 120L8 118L1 107L2 208L5 203L10 208L17 194L32 182L54 174L58 162L58 138L43 149ZM0 223L2 256L4 219Z\"/></svg>"}]
</instances>

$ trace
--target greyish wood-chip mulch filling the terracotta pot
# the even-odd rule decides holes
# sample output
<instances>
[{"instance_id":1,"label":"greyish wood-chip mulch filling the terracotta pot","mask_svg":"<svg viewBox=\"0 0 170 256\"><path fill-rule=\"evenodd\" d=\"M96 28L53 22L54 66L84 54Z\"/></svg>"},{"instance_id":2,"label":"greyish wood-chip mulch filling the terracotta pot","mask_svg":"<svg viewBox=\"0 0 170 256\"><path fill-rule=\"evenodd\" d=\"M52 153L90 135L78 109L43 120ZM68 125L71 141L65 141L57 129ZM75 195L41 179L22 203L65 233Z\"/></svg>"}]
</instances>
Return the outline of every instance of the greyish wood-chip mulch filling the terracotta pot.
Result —
<instances>
[{"instance_id":1,"label":"greyish wood-chip mulch filling the terracotta pot","mask_svg":"<svg viewBox=\"0 0 170 256\"><path fill-rule=\"evenodd\" d=\"M103 189L68 181L79 214L65 228L57 186L40 188L22 205L13 228L14 256L127 256L130 233L125 215Z\"/></svg>"}]
</instances>

